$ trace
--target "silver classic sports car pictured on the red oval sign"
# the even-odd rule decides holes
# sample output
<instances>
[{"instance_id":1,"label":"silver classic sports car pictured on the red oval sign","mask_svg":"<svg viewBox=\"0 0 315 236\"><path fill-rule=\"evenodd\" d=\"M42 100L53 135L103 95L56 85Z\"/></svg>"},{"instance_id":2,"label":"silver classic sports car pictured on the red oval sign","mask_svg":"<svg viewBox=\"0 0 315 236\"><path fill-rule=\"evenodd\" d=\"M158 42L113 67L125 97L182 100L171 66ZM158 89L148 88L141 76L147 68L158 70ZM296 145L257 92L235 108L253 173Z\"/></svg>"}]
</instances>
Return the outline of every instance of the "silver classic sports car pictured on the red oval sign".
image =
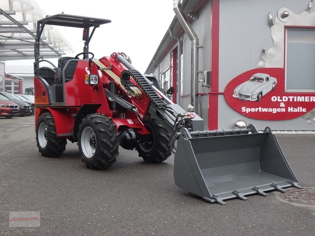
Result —
<instances>
[{"instance_id":1,"label":"silver classic sports car pictured on the red oval sign","mask_svg":"<svg viewBox=\"0 0 315 236\"><path fill-rule=\"evenodd\" d=\"M260 101L261 97L269 91L274 90L277 85L277 79L267 74L257 73L252 75L249 81L246 81L234 89L234 98L243 101Z\"/></svg>"}]
</instances>

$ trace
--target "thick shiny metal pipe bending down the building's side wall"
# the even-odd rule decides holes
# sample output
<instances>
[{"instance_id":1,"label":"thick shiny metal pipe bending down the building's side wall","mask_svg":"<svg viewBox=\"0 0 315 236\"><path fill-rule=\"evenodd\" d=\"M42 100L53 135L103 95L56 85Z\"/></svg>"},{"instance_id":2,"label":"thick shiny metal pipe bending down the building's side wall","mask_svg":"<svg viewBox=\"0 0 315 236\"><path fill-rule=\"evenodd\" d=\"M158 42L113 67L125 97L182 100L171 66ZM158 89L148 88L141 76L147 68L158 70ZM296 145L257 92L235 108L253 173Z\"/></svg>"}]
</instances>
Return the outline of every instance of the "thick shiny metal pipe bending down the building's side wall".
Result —
<instances>
[{"instance_id":1,"label":"thick shiny metal pipe bending down the building's side wall","mask_svg":"<svg viewBox=\"0 0 315 236\"><path fill-rule=\"evenodd\" d=\"M198 50L199 39L193 30L190 22L187 20L181 6L180 0L173 0L173 10L180 25L183 27L191 41L191 64L190 64L190 104L194 107L194 112L198 114L198 99L196 99L196 86L198 83Z\"/></svg>"}]
</instances>

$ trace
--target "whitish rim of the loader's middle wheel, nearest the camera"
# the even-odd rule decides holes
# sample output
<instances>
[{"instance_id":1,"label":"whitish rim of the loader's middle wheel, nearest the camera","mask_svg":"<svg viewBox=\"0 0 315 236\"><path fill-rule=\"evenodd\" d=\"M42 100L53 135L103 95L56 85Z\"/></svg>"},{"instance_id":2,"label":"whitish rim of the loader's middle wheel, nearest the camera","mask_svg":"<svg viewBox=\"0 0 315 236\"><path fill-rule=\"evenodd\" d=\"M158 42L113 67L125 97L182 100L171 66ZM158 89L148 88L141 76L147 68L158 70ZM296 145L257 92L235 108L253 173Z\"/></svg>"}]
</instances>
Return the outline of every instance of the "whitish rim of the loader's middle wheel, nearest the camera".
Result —
<instances>
[{"instance_id":1,"label":"whitish rim of the loader's middle wheel, nearest the camera","mask_svg":"<svg viewBox=\"0 0 315 236\"><path fill-rule=\"evenodd\" d=\"M83 155L87 158L91 158L96 149L95 133L90 126L86 126L81 134L81 149Z\"/></svg>"}]
</instances>

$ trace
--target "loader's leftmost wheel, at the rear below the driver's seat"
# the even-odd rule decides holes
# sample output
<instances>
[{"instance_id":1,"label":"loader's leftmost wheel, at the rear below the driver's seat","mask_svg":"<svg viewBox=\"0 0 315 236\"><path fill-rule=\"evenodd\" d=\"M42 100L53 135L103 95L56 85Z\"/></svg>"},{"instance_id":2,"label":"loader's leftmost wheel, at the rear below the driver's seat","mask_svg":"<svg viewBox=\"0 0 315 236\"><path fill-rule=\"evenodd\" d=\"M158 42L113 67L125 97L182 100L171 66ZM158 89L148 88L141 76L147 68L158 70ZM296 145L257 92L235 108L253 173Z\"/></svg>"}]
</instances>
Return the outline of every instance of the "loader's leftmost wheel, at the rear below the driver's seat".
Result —
<instances>
[{"instance_id":1,"label":"loader's leftmost wheel, at the rear below the driver's seat","mask_svg":"<svg viewBox=\"0 0 315 236\"><path fill-rule=\"evenodd\" d=\"M38 118L36 141L39 152L46 157L60 156L66 150L67 139L57 138L54 117L50 112Z\"/></svg>"}]
</instances>

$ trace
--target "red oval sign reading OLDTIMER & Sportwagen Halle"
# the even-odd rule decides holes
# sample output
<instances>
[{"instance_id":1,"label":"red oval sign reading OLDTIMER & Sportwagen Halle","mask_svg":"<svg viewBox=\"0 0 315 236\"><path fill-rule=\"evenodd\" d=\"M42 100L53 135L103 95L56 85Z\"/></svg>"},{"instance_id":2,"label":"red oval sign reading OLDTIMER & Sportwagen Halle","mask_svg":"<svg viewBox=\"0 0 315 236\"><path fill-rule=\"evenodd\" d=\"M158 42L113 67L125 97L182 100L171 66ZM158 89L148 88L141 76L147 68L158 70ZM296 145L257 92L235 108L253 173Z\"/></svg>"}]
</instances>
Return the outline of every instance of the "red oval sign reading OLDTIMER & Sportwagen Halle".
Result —
<instances>
[{"instance_id":1,"label":"red oval sign reading OLDTIMER & Sportwagen Halle","mask_svg":"<svg viewBox=\"0 0 315 236\"><path fill-rule=\"evenodd\" d=\"M315 107L315 93L284 92L283 68L246 71L225 88L226 103L238 113L257 120L289 120Z\"/></svg>"}]
</instances>

